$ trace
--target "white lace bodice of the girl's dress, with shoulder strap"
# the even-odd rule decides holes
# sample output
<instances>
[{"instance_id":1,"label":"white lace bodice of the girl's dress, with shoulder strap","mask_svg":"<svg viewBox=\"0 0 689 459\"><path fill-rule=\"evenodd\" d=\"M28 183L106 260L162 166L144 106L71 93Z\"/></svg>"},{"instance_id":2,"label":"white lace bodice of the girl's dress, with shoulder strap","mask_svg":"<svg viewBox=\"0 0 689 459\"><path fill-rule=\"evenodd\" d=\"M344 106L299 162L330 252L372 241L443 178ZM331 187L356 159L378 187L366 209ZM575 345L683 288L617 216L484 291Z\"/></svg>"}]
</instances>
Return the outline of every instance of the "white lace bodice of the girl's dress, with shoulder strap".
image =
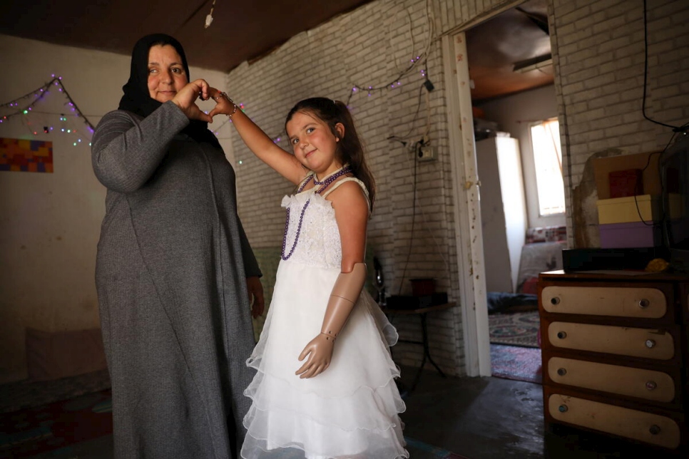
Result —
<instances>
[{"instance_id":1,"label":"white lace bodice of the girl's dress, with shoulder strap","mask_svg":"<svg viewBox=\"0 0 689 459\"><path fill-rule=\"evenodd\" d=\"M347 180L359 183L368 197L362 182L354 178ZM291 262L339 270L342 265L342 242L340 229L337 228L335 220L335 209L332 208L329 200L322 195L317 195L313 189L282 198L282 207L290 209L285 255L290 253L290 249L295 244L302 209L307 201L309 205L304 212L299 240L289 259Z\"/></svg>"}]
</instances>

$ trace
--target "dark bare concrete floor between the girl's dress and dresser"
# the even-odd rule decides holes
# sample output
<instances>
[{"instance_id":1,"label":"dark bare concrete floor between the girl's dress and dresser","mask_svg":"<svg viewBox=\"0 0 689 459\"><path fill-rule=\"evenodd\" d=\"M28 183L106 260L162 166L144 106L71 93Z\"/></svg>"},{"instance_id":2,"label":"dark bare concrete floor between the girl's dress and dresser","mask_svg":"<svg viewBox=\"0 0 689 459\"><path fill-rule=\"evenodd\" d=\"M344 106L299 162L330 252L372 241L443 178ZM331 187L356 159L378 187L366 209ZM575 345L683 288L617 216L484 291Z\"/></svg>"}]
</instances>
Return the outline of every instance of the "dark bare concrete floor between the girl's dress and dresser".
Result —
<instances>
[{"instance_id":1,"label":"dark bare concrete floor between the girl's dress and dresser","mask_svg":"<svg viewBox=\"0 0 689 459\"><path fill-rule=\"evenodd\" d=\"M402 382L411 383L415 370L402 368ZM405 436L469 459L688 457L565 426L546 429L543 392L536 383L441 378L424 370L405 401Z\"/></svg>"}]
</instances>

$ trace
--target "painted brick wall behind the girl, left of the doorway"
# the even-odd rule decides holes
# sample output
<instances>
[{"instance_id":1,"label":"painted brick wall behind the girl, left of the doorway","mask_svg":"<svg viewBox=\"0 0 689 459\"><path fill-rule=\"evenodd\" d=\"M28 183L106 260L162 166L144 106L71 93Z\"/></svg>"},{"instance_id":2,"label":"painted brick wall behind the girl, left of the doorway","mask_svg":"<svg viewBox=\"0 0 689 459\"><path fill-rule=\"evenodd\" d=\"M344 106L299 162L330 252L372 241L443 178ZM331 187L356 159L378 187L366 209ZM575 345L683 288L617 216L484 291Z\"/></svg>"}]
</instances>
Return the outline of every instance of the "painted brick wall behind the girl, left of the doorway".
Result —
<instances>
[{"instance_id":1,"label":"painted brick wall behind the girl, left of the doorway","mask_svg":"<svg viewBox=\"0 0 689 459\"><path fill-rule=\"evenodd\" d=\"M270 56L244 63L228 75L235 102L244 103L246 113L272 138L280 138L283 148L285 115L297 100L349 100L377 177L368 244L384 267L389 294L408 294L409 279L432 277L439 291L448 292L451 300L458 298L442 56L439 41L429 43L428 36L429 23L434 36L456 26L458 18L469 14L461 11L467 3L474 2L374 1L293 37ZM404 73L417 56L424 57L426 48L426 66L426 59L420 59ZM421 88L424 68L435 86L431 93ZM352 93L354 86L363 90ZM369 95L369 86L383 88ZM422 138L427 126L438 159L415 168L409 146ZM406 141L407 147L389 140L392 136ZM253 158L237 136L233 155L240 214L252 244L279 245L285 218L279 203L291 185ZM429 317L432 355L451 374L464 372L460 322L459 308ZM402 339L420 339L417 317L397 316L394 324ZM420 346L400 343L394 356L399 363L418 365L422 353Z\"/></svg>"}]
</instances>

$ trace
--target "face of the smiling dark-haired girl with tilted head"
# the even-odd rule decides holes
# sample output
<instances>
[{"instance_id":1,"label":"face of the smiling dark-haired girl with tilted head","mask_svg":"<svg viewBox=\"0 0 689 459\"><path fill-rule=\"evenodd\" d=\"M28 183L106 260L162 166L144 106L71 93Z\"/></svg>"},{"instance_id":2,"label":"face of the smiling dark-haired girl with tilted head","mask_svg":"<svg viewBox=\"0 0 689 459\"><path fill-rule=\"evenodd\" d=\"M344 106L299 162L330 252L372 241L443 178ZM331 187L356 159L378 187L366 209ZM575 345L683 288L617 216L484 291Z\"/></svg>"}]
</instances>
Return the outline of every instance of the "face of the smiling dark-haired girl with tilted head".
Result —
<instances>
[{"instance_id":1,"label":"face of the smiling dark-haired girl with tilted head","mask_svg":"<svg viewBox=\"0 0 689 459\"><path fill-rule=\"evenodd\" d=\"M321 178L342 167L342 161L337 157L337 143L345 135L342 123L335 125L335 137L330 127L319 118L310 113L297 112L287 121L286 127L295 156L305 167L315 171Z\"/></svg>"}]
</instances>

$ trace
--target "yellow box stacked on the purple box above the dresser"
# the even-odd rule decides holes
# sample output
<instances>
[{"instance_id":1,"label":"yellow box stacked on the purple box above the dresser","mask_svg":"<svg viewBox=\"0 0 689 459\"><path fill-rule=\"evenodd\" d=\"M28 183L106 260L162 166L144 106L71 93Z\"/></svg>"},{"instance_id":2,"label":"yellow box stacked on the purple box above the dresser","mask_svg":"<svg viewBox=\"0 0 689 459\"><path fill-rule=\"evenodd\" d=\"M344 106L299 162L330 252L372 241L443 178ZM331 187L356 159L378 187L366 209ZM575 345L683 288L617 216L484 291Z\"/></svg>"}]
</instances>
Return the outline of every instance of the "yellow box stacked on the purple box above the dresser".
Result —
<instances>
[{"instance_id":1,"label":"yellow box stacked on the purple box above the dresser","mask_svg":"<svg viewBox=\"0 0 689 459\"><path fill-rule=\"evenodd\" d=\"M660 196L638 195L596 201L598 223L653 222L661 218Z\"/></svg>"}]
</instances>

